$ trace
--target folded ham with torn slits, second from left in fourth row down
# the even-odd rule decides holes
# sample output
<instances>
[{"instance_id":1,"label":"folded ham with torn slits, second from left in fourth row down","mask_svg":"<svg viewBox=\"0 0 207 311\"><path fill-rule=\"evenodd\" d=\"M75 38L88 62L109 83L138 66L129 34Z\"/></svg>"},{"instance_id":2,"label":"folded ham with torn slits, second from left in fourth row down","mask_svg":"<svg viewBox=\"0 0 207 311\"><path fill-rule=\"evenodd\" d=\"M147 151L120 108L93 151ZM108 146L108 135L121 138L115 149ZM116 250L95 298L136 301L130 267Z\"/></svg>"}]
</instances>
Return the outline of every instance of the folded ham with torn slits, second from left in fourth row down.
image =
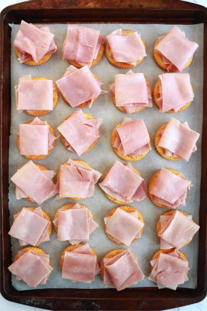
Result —
<instances>
[{"instance_id":1,"label":"folded ham with torn slits, second from left in fourth row down","mask_svg":"<svg viewBox=\"0 0 207 311\"><path fill-rule=\"evenodd\" d=\"M92 197L101 175L95 169L69 159L66 165L61 165L60 178L54 189L58 193L56 198Z\"/></svg>"}]
</instances>

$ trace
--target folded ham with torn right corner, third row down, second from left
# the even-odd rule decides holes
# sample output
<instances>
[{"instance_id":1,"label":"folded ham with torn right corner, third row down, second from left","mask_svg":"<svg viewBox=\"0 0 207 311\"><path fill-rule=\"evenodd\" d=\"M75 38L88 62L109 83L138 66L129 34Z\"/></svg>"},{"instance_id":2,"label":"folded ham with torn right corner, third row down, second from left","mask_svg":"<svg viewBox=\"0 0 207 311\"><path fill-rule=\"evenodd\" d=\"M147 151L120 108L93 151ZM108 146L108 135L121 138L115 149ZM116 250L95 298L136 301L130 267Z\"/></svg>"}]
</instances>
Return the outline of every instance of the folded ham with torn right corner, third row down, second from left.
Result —
<instances>
[{"instance_id":1,"label":"folded ham with torn right corner, third row down, second from left","mask_svg":"<svg viewBox=\"0 0 207 311\"><path fill-rule=\"evenodd\" d=\"M78 110L57 129L64 136L68 150L81 156L100 137L98 128L101 121L102 119L88 120L83 111Z\"/></svg>"}]
</instances>

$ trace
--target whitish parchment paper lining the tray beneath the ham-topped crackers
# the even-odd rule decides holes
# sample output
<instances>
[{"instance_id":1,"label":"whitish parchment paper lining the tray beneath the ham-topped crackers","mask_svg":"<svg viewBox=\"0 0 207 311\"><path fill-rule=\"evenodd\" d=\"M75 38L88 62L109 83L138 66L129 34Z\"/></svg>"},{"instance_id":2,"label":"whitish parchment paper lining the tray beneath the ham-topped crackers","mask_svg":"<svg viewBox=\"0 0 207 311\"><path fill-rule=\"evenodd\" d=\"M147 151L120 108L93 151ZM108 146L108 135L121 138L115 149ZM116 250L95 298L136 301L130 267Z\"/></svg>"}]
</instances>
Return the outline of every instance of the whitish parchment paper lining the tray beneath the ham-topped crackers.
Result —
<instances>
[{"instance_id":1,"label":"whitish parchment paper lining the tray beneath the ham-topped crackers","mask_svg":"<svg viewBox=\"0 0 207 311\"><path fill-rule=\"evenodd\" d=\"M66 24L53 24L49 25L50 30L55 34L55 42L57 44L57 51L52 55L52 58L41 66L27 66L20 64L17 60L14 52L13 42L16 37L19 25L11 26L11 136L9 142L9 177L11 177L17 169L27 163L28 159L21 156L16 146L16 134L19 131L19 124L26 123L32 120L34 117L26 114L25 112L18 113L15 105L15 91L14 86L18 84L19 78L23 75L31 74L32 77L46 77L57 81L60 79L66 67L70 66L67 60L62 60L62 46L67 33ZM46 25L40 25L46 26ZM153 88L158 75L164 73L153 58L153 46L158 36L168 32L173 25L138 25L138 24L83 24L83 26L89 26L101 30L101 33L108 35L110 32L122 28L132 29L142 35L147 47L147 57L144 58L141 64L132 68L134 72L143 72L145 77ZM154 147L154 136L158 128L169 121L170 117L175 117L181 122L187 121L189 126L196 132L202 133L202 118L203 118L203 24L198 25L178 25L179 28L185 31L187 38L196 41L199 44L199 48L196 50L192 63L185 73L190 74L191 84L194 89L194 100L191 105L184 111L177 114L161 114L159 109L153 101L153 108L146 108L137 114L124 114L119 111L113 104L111 92L109 90L109 84L114 81L114 75L118 73L126 73L129 69L122 69L115 67L109 63L104 54L101 61L91 68L100 81L105 85L104 90L108 93L100 95L97 101L89 108L83 108L83 112L91 114L94 118L102 118L102 124L100 127L100 135L96 146L89 152L83 154L80 159L88 162L92 168L99 170L103 175L114 164L115 160L119 160L122 163L127 163L121 160L114 153L111 144L110 136L111 132L117 124L122 122L123 118L128 116L133 120L143 118L146 123L146 127L151 134L152 138L152 150L142 159L131 164L136 167L145 179L147 185L151 176L162 167L176 169L184 174L187 179L191 180L194 187L188 192L191 197L187 197L186 206L179 206L178 209L187 212L193 216L196 223L199 222L199 205L200 205L200 176L201 176L201 135L197 142L198 150L192 154L191 159L187 163L186 161L169 161L161 157ZM78 108L71 108L61 98L59 93L59 100L56 108L49 114L40 117L43 120L48 121L55 129L56 135L59 135L57 126L60 125L63 120ZM34 161L47 167L47 169L54 169L56 172L60 168L60 165L65 163L69 158L77 159L77 156L68 151L61 143L60 139L57 140L54 150L45 159ZM103 175L99 181L102 180ZM45 210L51 220L53 220L56 211L61 208L62 205L74 202L69 199L55 200L51 198L43 204L41 207ZM77 202L77 201L76 201ZM99 227L90 234L89 245L95 250L99 263L106 253L116 248L127 248L127 246L115 244L106 235L104 231L103 218L107 216L109 211L118 207L108 200L101 188L96 185L94 196L79 201L79 203L88 207L94 216L94 220L98 223ZM142 202L132 202L129 204L137 210L139 210L144 218L145 227L141 239L130 245L132 252L136 255L139 266L141 267L145 278L137 285L132 287L149 287L156 286L152 281L149 281L147 277L150 274L149 260L160 248L159 239L156 235L156 224L160 215L165 213L167 209L162 209L155 206L150 199L145 199ZM10 181L9 187L9 209L10 209L10 224L13 222L13 215L16 214L22 207L35 206L38 204L27 202L23 199L15 199L15 185ZM196 288L197 286L197 256L198 256L198 233L195 235L190 244L181 249L182 252L188 258L190 271L189 281L178 287ZM18 250L20 249L17 239L11 238L12 244L12 257L14 258ZM59 266L59 259L62 251L69 245L69 242L60 242L56 240L56 232L53 228L50 236L50 241L44 242L40 247L50 255L51 264L53 270L50 277L47 280L46 285L38 285L38 288L104 288L105 285L100 277L97 275L95 281L91 284L86 283L72 283L69 280L61 278L61 270ZM29 290L30 288L23 282L17 281L15 276L12 275L12 285L16 290Z\"/></svg>"}]
</instances>

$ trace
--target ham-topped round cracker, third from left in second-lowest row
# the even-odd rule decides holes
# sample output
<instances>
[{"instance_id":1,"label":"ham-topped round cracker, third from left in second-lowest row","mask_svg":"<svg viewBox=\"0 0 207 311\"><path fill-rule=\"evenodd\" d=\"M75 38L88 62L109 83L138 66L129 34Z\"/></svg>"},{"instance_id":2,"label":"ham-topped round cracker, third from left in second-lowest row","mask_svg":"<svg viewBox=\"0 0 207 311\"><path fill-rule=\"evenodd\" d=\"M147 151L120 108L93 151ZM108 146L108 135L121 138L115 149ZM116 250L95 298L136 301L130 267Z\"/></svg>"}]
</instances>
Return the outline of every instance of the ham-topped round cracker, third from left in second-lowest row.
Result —
<instances>
[{"instance_id":1,"label":"ham-topped round cracker, third from left in second-lowest row","mask_svg":"<svg viewBox=\"0 0 207 311\"><path fill-rule=\"evenodd\" d=\"M111 241L129 246L141 238L144 220L136 208L122 205L114 208L104 217L104 229Z\"/></svg>"}]
</instances>

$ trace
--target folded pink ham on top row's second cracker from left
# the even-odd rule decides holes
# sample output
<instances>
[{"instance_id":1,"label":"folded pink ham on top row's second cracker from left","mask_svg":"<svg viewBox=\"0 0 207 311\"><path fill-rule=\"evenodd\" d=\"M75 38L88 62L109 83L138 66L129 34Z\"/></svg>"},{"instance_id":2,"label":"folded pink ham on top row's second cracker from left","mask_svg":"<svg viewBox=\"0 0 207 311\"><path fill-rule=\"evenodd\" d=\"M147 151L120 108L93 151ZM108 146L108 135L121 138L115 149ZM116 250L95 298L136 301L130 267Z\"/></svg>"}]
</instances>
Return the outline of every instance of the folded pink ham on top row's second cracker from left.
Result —
<instances>
[{"instance_id":1,"label":"folded pink ham on top row's second cracker from left","mask_svg":"<svg viewBox=\"0 0 207 311\"><path fill-rule=\"evenodd\" d=\"M99 30L68 24L63 44L63 59L73 60L90 68L93 59L97 58L103 40L104 35L100 35Z\"/></svg>"}]
</instances>

